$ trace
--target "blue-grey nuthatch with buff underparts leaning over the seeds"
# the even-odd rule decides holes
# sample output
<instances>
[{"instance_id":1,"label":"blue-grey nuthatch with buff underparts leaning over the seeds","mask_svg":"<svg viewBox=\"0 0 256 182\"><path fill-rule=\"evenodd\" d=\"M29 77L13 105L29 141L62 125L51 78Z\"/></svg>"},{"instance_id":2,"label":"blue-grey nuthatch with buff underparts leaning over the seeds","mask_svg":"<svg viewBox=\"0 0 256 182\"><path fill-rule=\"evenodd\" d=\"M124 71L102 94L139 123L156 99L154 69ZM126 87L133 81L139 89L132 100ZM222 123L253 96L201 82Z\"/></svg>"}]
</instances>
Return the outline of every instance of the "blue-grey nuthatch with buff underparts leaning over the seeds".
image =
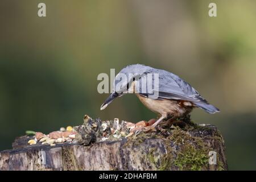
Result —
<instances>
[{"instance_id":1,"label":"blue-grey nuthatch with buff underparts leaning over the seeds","mask_svg":"<svg viewBox=\"0 0 256 182\"><path fill-rule=\"evenodd\" d=\"M140 85L145 82L146 86L143 90L143 86ZM148 89L150 84L151 90ZM210 105L195 88L179 76L147 65L132 64L123 68L115 76L113 92L101 105L101 110L105 109L115 98L122 97L127 93L136 94L144 106L154 113L160 114L160 118L152 127L156 127L163 119L184 117L195 107L210 114L220 112L217 107Z\"/></svg>"}]
</instances>

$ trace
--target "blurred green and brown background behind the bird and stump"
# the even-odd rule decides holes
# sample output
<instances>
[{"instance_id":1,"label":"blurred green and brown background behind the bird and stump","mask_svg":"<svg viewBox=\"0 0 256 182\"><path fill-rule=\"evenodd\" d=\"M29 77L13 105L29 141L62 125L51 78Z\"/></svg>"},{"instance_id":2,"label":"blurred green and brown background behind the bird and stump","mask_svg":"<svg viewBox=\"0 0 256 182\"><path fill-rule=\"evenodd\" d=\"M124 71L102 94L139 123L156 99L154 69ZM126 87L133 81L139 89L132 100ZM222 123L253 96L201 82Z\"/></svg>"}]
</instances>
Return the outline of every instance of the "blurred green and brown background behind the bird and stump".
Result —
<instances>
[{"instance_id":1,"label":"blurred green and brown background behind the bird and stump","mask_svg":"<svg viewBox=\"0 0 256 182\"><path fill-rule=\"evenodd\" d=\"M38 3L47 17L38 17ZM217 17L208 16L210 2ZM146 64L176 73L220 108L229 169L256 169L256 1L0 2L0 150L26 130L80 125L84 114L154 118L128 94L101 111L99 73Z\"/></svg>"}]
</instances>

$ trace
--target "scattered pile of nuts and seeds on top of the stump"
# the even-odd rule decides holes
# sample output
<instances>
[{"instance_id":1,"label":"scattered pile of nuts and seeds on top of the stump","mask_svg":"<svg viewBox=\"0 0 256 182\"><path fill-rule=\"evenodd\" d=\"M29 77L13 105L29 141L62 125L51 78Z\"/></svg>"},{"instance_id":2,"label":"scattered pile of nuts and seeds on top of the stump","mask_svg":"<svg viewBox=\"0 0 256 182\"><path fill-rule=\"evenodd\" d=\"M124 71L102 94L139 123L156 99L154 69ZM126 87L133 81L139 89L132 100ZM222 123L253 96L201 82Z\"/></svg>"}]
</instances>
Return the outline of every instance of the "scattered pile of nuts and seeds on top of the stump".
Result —
<instances>
[{"instance_id":1,"label":"scattered pile of nuts and seeds on top of the stump","mask_svg":"<svg viewBox=\"0 0 256 182\"><path fill-rule=\"evenodd\" d=\"M72 144L84 144L88 145L95 142L103 141L115 141L125 138L137 137L140 133L152 137L155 133L160 133L164 136L170 135L171 126L187 127L195 125L190 121L190 118L180 118L173 120L167 120L156 129L152 127L156 119L150 119L147 121L139 121L137 123L131 123L127 121L119 121L115 118L113 121L101 121L100 118L92 119L89 115L84 116L84 123L80 126L68 126L61 127L59 131L52 131L49 134L43 134L40 132L29 131L27 134L34 134L28 145L34 144L48 144L55 146L59 143L72 143ZM187 128L188 130L188 128Z\"/></svg>"}]
</instances>

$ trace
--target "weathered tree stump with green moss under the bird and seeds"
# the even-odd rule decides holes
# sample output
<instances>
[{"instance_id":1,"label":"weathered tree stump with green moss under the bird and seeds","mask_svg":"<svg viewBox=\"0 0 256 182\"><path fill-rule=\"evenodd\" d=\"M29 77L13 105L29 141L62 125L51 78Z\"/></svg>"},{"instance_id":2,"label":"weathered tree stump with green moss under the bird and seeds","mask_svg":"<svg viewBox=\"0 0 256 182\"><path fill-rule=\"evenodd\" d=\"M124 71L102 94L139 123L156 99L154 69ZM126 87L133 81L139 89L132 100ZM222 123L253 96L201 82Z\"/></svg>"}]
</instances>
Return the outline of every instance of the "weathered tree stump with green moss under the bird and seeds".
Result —
<instances>
[{"instance_id":1,"label":"weathered tree stump with green moss under the bird and seeds","mask_svg":"<svg viewBox=\"0 0 256 182\"><path fill-rule=\"evenodd\" d=\"M23 137L23 143L28 139ZM155 132L142 132L128 138L90 143L87 146L24 146L22 142L18 142L18 146L21 147L0 152L0 170L228 169L224 140L213 125L171 125ZM216 158L210 156L212 154Z\"/></svg>"}]
</instances>

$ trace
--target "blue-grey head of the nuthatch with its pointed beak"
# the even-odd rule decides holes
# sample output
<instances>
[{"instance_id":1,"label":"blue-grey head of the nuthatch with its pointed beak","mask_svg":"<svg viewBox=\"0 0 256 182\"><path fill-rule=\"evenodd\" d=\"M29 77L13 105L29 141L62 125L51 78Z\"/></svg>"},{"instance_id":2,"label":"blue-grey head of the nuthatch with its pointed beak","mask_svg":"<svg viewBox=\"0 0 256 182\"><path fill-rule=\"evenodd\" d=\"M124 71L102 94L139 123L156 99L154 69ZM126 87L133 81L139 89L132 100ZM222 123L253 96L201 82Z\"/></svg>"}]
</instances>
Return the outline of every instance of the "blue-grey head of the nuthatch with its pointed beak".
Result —
<instances>
[{"instance_id":1,"label":"blue-grey head of the nuthatch with its pointed beak","mask_svg":"<svg viewBox=\"0 0 256 182\"><path fill-rule=\"evenodd\" d=\"M105 109L115 98L121 97L126 93L134 93L136 89L134 82L138 81L150 68L141 64L133 64L123 68L115 76L113 92L101 105L101 110Z\"/></svg>"}]
</instances>

